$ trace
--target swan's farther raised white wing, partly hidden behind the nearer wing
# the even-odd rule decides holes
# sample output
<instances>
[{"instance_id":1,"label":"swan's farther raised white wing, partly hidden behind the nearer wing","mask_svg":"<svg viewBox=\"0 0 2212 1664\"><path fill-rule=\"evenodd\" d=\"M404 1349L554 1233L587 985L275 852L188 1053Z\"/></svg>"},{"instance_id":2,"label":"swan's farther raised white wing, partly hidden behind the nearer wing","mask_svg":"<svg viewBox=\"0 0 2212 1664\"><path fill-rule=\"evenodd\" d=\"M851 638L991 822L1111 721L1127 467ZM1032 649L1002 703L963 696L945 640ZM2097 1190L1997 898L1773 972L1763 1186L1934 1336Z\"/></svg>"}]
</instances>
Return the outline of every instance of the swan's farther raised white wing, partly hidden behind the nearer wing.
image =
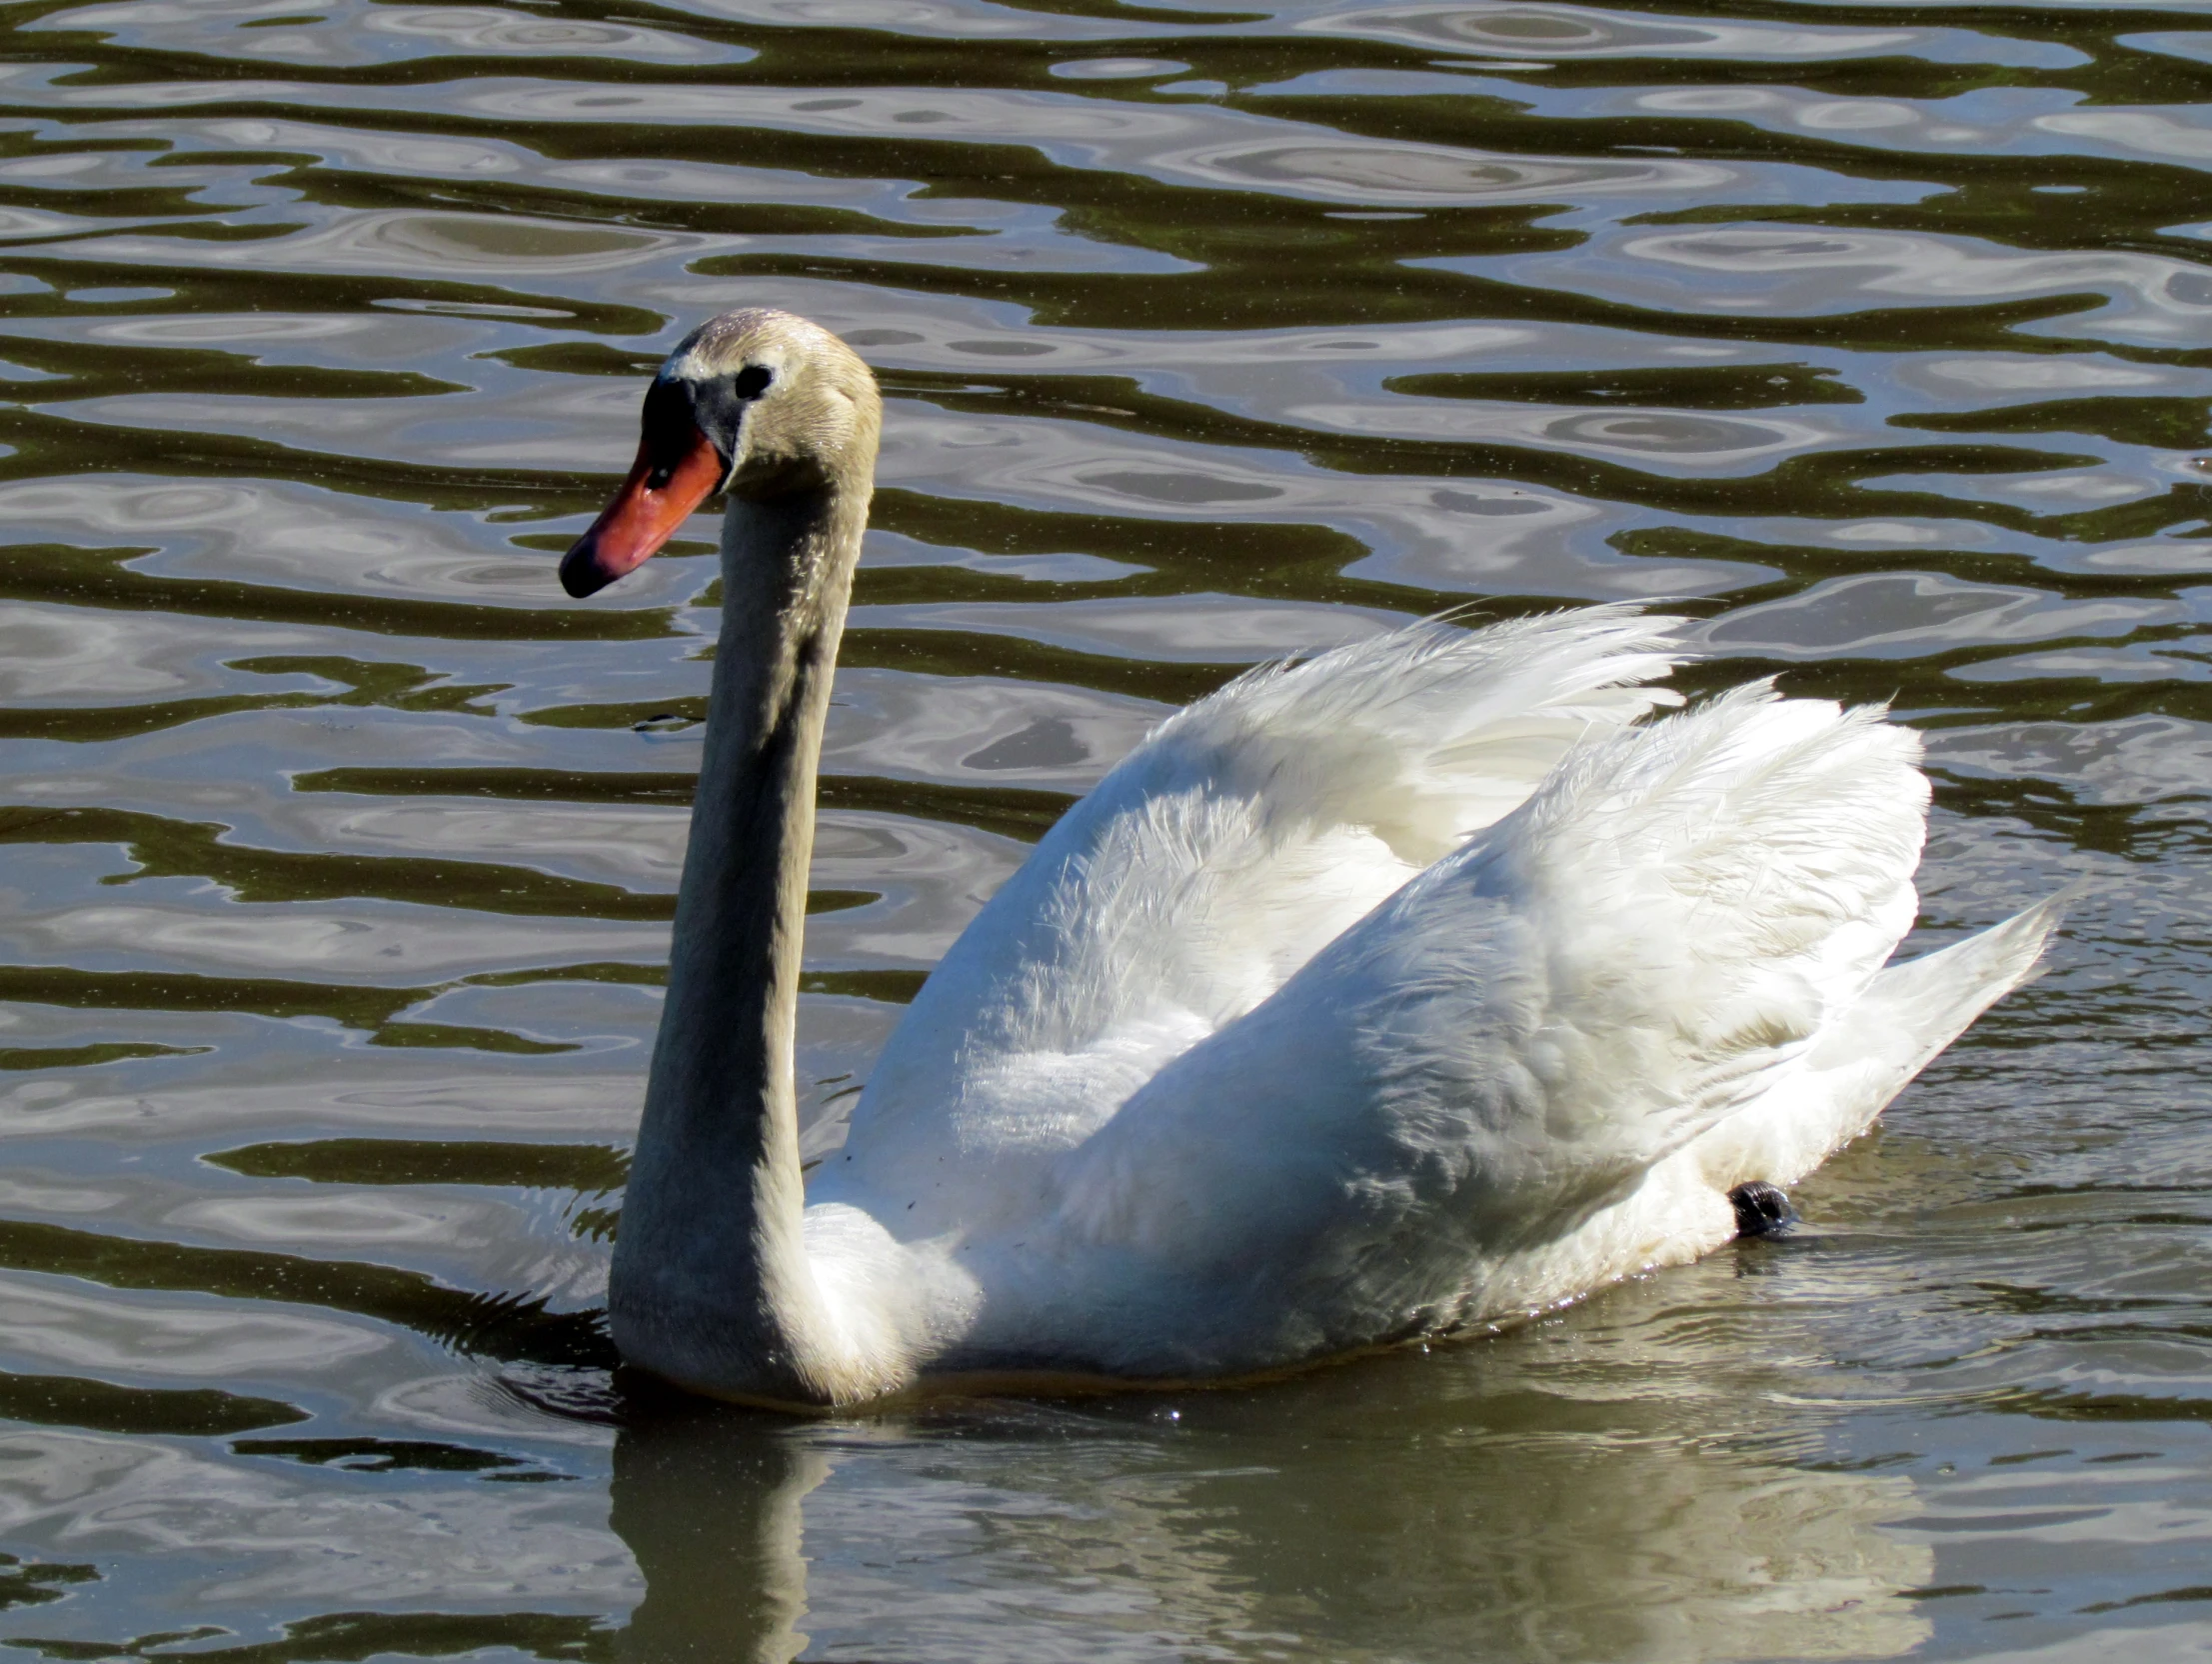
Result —
<instances>
[{"instance_id":1,"label":"swan's farther raised white wing, partly hidden behind the nearer wing","mask_svg":"<svg viewBox=\"0 0 2212 1664\"><path fill-rule=\"evenodd\" d=\"M945 956L825 1179L865 1193L942 1173L905 1197L918 1230L1035 1202L1011 1173L1024 1151L1079 1144L1575 743L1677 704L1639 686L1672 668L1677 624L1619 606L1422 624L1177 713ZM989 1177L964 1184L956 1157Z\"/></svg>"}]
</instances>

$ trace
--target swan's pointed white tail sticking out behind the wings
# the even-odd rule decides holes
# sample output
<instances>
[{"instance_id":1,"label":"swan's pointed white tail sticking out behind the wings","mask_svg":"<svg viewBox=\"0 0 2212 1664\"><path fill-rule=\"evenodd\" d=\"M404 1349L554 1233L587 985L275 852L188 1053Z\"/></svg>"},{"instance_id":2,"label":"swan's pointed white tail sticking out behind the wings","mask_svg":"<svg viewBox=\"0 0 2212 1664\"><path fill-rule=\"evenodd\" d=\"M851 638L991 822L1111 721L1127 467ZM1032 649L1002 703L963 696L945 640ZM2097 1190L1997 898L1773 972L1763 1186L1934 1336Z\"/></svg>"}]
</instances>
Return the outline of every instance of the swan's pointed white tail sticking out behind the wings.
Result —
<instances>
[{"instance_id":1,"label":"swan's pointed white tail sticking out behind the wings","mask_svg":"<svg viewBox=\"0 0 2212 1664\"><path fill-rule=\"evenodd\" d=\"M1708 1182L1721 1190L1747 1179L1794 1184L1865 1133L1966 1025L2035 974L2079 894L2068 885L2002 925L1876 976L1798 1073L1699 1140Z\"/></svg>"}]
</instances>

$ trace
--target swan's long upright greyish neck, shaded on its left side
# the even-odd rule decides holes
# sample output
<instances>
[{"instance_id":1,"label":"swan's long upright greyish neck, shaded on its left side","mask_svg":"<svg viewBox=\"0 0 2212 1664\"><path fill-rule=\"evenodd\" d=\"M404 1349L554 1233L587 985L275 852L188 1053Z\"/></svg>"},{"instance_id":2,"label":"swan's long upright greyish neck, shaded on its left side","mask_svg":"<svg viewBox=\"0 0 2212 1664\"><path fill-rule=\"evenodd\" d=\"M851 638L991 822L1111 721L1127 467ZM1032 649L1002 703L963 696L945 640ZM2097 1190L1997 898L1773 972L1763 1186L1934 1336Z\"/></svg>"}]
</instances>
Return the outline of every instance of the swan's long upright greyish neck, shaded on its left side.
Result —
<instances>
[{"instance_id":1,"label":"swan's long upright greyish neck, shaded on its left side","mask_svg":"<svg viewBox=\"0 0 2212 1664\"><path fill-rule=\"evenodd\" d=\"M865 524L867 487L836 480L723 518L706 759L608 1288L628 1361L785 1403L852 1396L801 1244L792 1047L814 768Z\"/></svg>"}]
</instances>

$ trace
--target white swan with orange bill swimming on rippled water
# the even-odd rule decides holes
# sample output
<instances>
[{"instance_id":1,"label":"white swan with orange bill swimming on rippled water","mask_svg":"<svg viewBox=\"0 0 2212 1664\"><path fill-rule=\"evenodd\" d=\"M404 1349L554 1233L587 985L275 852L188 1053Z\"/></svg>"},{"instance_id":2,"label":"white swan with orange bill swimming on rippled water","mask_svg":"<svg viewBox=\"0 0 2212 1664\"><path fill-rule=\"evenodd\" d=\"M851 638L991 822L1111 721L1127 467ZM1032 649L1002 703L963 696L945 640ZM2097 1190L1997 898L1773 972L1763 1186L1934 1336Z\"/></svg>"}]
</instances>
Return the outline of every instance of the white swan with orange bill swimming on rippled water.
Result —
<instances>
[{"instance_id":1,"label":"white swan with orange bill swimming on rippled water","mask_svg":"<svg viewBox=\"0 0 2212 1664\"><path fill-rule=\"evenodd\" d=\"M1425 622L1168 717L931 974L801 1173L814 777L880 401L774 310L686 336L571 595L721 491L721 637L608 1275L635 1367L796 1410L1250 1379L1480 1330L1785 1213L2042 956L1889 965L1918 739L1661 690L1683 620Z\"/></svg>"}]
</instances>

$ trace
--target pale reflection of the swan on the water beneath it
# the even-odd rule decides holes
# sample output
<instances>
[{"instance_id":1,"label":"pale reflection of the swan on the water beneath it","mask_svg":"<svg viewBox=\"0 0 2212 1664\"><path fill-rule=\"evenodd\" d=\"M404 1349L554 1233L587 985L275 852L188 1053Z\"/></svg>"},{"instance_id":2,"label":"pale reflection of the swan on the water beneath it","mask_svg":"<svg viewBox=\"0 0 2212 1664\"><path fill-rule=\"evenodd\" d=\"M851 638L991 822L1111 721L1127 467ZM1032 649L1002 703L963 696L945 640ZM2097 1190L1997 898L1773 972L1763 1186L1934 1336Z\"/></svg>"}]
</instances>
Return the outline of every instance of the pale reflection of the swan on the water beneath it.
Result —
<instances>
[{"instance_id":1,"label":"pale reflection of the swan on the water beneath it","mask_svg":"<svg viewBox=\"0 0 2212 1664\"><path fill-rule=\"evenodd\" d=\"M1907 1653L1913 1489L1820 1465L1820 1372L1745 1345L1772 1325L1739 1270L1272 1387L639 1416L622 1657Z\"/></svg>"}]
</instances>

